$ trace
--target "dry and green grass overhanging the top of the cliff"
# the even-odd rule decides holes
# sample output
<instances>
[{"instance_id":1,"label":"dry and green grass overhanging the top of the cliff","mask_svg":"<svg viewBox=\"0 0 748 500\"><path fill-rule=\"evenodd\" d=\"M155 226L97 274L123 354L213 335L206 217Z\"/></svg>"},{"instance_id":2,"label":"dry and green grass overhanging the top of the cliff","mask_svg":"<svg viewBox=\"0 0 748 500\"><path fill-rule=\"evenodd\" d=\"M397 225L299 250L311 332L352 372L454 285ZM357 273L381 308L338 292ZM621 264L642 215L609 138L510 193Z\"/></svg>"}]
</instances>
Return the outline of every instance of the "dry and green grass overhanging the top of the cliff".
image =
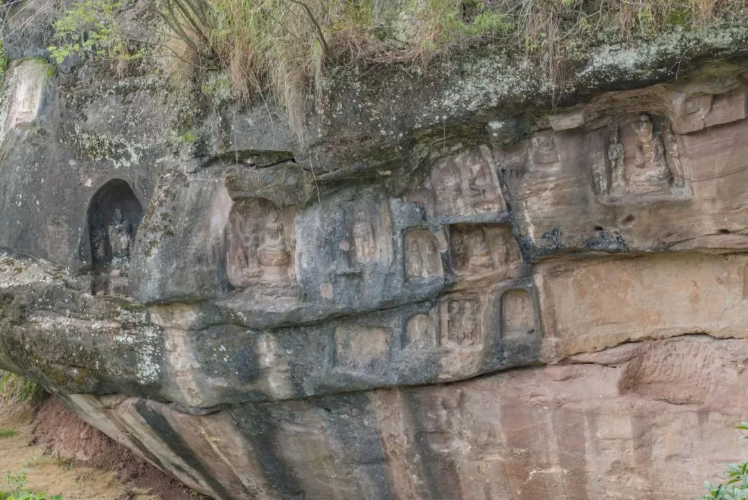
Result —
<instances>
[{"instance_id":1,"label":"dry and green grass overhanging the top of the cliff","mask_svg":"<svg viewBox=\"0 0 748 500\"><path fill-rule=\"evenodd\" d=\"M52 0L50 0L52 1ZM130 2L130 3L128 3ZM269 93L303 127L307 98L329 67L399 63L425 69L483 47L535 58L562 81L565 60L600 43L746 22L748 0L79 0L55 23L61 61L73 52L144 55L120 13L146 5L147 44L176 81L249 99ZM147 19L147 16L141 16ZM138 21L127 22L138 25ZM83 36L85 34L85 36ZM142 32L141 32L142 34ZM146 45L147 45L146 44ZM216 88L215 72L227 85ZM212 82L212 83L211 83ZM203 87L205 84L203 83Z\"/></svg>"}]
</instances>

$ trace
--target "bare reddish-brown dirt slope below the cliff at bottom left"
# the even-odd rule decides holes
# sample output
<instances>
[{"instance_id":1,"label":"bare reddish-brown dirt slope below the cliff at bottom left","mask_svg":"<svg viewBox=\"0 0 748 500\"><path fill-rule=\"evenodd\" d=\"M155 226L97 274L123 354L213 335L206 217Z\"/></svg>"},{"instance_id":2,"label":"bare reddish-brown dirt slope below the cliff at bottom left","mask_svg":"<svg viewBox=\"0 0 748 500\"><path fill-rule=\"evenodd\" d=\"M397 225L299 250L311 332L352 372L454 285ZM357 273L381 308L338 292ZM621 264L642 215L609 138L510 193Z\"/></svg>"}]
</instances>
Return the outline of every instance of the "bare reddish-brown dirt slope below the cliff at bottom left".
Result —
<instances>
[{"instance_id":1,"label":"bare reddish-brown dirt slope below the cliff at bottom left","mask_svg":"<svg viewBox=\"0 0 748 500\"><path fill-rule=\"evenodd\" d=\"M0 473L25 471L29 490L65 500L207 499L83 422L56 398L35 412L28 406L4 410L0 429L16 432L0 437Z\"/></svg>"}]
</instances>

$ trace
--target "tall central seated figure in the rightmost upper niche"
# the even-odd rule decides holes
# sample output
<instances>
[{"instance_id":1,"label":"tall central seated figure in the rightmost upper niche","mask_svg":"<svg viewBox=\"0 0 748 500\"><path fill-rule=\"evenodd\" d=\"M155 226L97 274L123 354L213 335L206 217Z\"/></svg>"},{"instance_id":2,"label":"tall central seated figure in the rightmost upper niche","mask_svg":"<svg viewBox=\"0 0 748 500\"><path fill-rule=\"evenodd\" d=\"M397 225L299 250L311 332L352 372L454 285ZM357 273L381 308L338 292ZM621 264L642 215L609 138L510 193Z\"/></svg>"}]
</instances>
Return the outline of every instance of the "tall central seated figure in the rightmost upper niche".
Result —
<instances>
[{"instance_id":1,"label":"tall central seated figure in the rightmost upper niche","mask_svg":"<svg viewBox=\"0 0 748 500\"><path fill-rule=\"evenodd\" d=\"M660 191L670 178L664 155L664 146L659 132L654 132L652 120L641 114L637 123L632 124L637 134L637 149L634 169L629 176L630 191L647 193Z\"/></svg>"}]
</instances>

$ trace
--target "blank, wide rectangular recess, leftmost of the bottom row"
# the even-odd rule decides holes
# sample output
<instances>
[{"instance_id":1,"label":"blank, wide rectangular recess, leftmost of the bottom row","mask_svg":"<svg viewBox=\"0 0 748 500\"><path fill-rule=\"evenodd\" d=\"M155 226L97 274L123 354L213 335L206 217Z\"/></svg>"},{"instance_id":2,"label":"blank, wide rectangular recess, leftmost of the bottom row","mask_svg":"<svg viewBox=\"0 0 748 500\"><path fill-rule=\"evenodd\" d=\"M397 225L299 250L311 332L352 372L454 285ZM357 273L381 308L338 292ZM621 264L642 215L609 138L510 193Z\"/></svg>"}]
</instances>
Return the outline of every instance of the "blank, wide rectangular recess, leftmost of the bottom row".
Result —
<instances>
[{"instance_id":1,"label":"blank, wide rectangular recess, leftmost of the bottom row","mask_svg":"<svg viewBox=\"0 0 748 500\"><path fill-rule=\"evenodd\" d=\"M389 328L337 327L334 365L352 369L383 368L389 344Z\"/></svg>"}]
</instances>

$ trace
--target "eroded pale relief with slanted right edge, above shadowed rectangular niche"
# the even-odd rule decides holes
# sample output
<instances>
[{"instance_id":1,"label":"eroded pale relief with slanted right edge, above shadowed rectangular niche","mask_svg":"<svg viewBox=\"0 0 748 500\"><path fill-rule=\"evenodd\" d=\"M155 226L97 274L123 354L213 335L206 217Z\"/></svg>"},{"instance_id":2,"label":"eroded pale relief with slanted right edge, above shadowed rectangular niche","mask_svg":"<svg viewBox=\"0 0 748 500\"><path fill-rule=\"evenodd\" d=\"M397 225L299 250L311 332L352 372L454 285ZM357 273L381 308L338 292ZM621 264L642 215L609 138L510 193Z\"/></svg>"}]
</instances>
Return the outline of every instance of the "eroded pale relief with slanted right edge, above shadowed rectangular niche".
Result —
<instances>
[{"instance_id":1,"label":"eroded pale relief with slanted right edge, above shadowed rectangular niche","mask_svg":"<svg viewBox=\"0 0 748 500\"><path fill-rule=\"evenodd\" d=\"M469 217L506 209L488 146L437 161L423 186L408 199L422 206L429 218Z\"/></svg>"}]
</instances>

